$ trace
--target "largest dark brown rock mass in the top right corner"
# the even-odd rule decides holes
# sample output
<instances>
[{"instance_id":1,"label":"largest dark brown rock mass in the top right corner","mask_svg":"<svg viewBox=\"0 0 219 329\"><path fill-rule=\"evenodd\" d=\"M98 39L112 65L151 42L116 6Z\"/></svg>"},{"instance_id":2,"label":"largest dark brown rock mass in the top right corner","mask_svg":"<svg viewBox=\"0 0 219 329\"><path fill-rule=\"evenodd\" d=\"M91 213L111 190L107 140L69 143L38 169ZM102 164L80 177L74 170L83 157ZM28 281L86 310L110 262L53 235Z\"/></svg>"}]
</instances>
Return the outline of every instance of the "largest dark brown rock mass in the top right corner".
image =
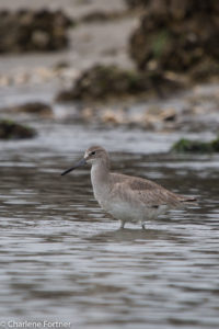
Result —
<instances>
[{"instance_id":1,"label":"largest dark brown rock mass in the top right corner","mask_svg":"<svg viewBox=\"0 0 219 329\"><path fill-rule=\"evenodd\" d=\"M185 72L203 60L219 63L219 2L148 0L130 37L130 56L139 69ZM200 26L205 26L200 29Z\"/></svg>"}]
</instances>

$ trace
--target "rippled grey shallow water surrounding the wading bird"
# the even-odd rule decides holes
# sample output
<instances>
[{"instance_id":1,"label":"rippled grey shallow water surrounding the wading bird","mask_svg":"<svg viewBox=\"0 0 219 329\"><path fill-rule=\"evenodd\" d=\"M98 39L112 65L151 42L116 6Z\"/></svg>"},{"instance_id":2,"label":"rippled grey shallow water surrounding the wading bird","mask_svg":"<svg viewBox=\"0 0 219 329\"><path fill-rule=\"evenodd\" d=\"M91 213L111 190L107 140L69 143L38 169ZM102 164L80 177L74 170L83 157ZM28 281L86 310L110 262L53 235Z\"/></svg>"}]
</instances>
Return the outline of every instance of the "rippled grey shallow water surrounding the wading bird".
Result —
<instances>
[{"instance_id":1,"label":"rippled grey shallow water surrounding the wading bird","mask_svg":"<svg viewBox=\"0 0 219 329\"><path fill-rule=\"evenodd\" d=\"M90 144L116 150L117 171L196 195L199 205L150 222L145 231L118 229L94 201L88 168L60 177L81 156L87 134ZM49 131L49 124L35 140L1 143L2 321L218 328L219 157L147 155L171 143L119 129Z\"/></svg>"}]
</instances>

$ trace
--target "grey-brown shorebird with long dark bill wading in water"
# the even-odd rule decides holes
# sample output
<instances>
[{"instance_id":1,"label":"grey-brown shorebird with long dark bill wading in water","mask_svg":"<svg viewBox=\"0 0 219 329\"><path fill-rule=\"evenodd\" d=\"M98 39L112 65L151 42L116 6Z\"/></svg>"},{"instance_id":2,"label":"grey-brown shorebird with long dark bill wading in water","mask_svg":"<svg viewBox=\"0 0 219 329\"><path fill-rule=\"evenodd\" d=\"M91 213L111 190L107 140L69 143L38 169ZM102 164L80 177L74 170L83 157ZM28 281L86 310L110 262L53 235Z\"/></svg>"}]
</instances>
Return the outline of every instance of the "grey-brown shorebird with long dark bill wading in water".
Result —
<instances>
[{"instance_id":1,"label":"grey-brown shorebird with long dark bill wading in water","mask_svg":"<svg viewBox=\"0 0 219 329\"><path fill-rule=\"evenodd\" d=\"M126 223L141 223L141 227L146 228L147 219L196 201L192 196L175 194L150 180L111 172L108 154L101 146L87 149L84 157L61 175L87 163L91 164L94 197L106 213L120 220L120 228Z\"/></svg>"}]
</instances>

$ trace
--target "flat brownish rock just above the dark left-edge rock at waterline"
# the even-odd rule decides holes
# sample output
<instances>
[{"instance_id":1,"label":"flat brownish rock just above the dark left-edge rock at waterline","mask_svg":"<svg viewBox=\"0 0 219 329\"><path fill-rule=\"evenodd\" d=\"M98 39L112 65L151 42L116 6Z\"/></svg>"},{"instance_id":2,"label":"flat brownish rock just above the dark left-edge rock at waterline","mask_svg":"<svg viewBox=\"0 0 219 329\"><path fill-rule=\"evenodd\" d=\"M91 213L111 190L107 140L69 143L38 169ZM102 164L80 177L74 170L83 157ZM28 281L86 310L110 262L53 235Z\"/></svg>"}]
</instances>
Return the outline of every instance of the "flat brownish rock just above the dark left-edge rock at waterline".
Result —
<instances>
[{"instance_id":1,"label":"flat brownish rock just above the dark left-edge rock at waterline","mask_svg":"<svg viewBox=\"0 0 219 329\"><path fill-rule=\"evenodd\" d=\"M53 109L50 107L50 105L42 102L25 103L22 105L12 106L10 109L4 109L4 111L27 113L27 114L38 115L43 117L53 116Z\"/></svg>"}]
</instances>

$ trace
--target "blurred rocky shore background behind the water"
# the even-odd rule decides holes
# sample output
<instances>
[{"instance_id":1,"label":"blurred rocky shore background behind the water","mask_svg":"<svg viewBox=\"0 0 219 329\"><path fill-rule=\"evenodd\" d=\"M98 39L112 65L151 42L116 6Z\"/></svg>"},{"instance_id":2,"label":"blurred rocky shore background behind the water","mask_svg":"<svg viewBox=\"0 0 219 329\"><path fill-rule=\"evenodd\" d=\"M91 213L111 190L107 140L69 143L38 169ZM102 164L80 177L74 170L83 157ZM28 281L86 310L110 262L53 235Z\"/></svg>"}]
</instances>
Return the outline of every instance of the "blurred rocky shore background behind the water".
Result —
<instances>
[{"instance_id":1,"label":"blurred rocky shore background behind the water","mask_svg":"<svg viewBox=\"0 0 219 329\"><path fill-rule=\"evenodd\" d=\"M26 102L45 102L55 121L217 133L215 2L1 1L0 7L1 113L11 116L9 107L24 103L23 112L32 114Z\"/></svg>"}]
</instances>

